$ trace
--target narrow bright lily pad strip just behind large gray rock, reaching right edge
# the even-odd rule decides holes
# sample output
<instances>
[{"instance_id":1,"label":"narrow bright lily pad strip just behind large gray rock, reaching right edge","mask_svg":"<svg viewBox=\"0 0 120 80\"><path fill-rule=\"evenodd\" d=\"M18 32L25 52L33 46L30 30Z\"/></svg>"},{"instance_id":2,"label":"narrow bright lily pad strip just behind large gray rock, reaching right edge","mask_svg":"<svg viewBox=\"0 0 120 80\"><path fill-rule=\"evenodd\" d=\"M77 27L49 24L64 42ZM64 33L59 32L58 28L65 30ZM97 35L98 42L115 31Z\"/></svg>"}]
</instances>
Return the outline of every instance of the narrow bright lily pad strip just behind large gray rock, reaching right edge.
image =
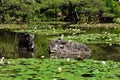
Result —
<instances>
[{"instance_id":1,"label":"narrow bright lily pad strip just behind large gray rock, reaching right edge","mask_svg":"<svg viewBox=\"0 0 120 80\"><path fill-rule=\"evenodd\" d=\"M73 40L83 43L119 43L120 37L117 34L86 34L79 36L65 37L67 40Z\"/></svg>"}]
</instances>

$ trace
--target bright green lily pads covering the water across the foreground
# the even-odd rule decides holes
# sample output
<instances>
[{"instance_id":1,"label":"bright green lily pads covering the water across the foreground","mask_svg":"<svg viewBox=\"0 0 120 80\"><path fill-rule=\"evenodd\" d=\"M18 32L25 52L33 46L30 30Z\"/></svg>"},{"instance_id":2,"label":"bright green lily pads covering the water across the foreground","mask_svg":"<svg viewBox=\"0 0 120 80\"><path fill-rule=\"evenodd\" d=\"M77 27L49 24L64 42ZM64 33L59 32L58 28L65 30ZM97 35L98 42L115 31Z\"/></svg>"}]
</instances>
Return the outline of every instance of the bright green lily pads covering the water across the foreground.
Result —
<instances>
[{"instance_id":1,"label":"bright green lily pads covering the water across the foreground","mask_svg":"<svg viewBox=\"0 0 120 80\"><path fill-rule=\"evenodd\" d=\"M120 63L86 59L5 59L2 80L119 80Z\"/></svg>"}]
</instances>

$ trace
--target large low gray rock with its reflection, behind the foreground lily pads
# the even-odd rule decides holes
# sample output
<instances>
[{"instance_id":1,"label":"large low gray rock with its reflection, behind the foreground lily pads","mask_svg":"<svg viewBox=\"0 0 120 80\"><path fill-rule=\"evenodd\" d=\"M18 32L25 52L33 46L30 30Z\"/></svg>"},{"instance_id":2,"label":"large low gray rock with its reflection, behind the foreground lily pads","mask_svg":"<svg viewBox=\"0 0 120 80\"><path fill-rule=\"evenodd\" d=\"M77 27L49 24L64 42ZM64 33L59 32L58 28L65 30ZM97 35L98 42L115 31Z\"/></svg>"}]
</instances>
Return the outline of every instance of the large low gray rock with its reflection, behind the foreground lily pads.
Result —
<instances>
[{"instance_id":1,"label":"large low gray rock with its reflection, behind the foreground lily pads","mask_svg":"<svg viewBox=\"0 0 120 80\"><path fill-rule=\"evenodd\" d=\"M91 56L91 50L85 44L61 39L51 41L50 52L50 57L57 59L86 59Z\"/></svg>"}]
</instances>

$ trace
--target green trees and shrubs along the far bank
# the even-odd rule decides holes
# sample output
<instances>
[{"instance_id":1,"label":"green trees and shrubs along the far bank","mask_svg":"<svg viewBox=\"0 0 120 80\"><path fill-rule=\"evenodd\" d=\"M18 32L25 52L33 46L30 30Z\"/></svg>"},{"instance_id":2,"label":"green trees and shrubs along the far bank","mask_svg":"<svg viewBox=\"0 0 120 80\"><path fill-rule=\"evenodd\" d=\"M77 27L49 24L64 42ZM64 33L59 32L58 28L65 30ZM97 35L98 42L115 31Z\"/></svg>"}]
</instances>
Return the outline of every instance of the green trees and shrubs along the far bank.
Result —
<instances>
[{"instance_id":1,"label":"green trees and shrubs along the far bank","mask_svg":"<svg viewBox=\"0 0 120 80\"><path fill-rule=\"evenodd\" d=\"M69 15L68 11L71 10L69 9L69 1L75 6L80 18L84 18L84 16L82 17L81 13L79 13L82 11L90 12L86 18L89 18L89 16L97 18L96 14L98 14L99 11L114 14L117 17L120 15L120 6L113 0L0 0L0 23L65 21L65 17ZM62 6L67 15L63 15ZM93 22L95 21L96 19L93 19Z\"/></svg>"}]
</instances>

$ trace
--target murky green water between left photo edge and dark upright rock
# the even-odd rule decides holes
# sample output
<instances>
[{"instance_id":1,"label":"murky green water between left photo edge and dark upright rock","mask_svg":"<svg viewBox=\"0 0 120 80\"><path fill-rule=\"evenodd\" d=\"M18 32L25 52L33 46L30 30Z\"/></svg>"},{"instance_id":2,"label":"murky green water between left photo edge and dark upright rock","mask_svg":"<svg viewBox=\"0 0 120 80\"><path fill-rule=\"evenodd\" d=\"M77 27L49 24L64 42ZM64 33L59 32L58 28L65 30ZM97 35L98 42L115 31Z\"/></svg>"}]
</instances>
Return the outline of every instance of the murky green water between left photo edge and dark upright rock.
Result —
<instances>
[{"instance_id":1,"label":"murky green water between left photo edge and dark upright rock","mask_svg":"<svg viewBox=\"0 0 120 80\"><path fill-rule=\"evenodd\" d=\"M0 57L6 58L18 57L16 53L15 33L6 30L0 30Z\"/></svg>"}]
</instances>

